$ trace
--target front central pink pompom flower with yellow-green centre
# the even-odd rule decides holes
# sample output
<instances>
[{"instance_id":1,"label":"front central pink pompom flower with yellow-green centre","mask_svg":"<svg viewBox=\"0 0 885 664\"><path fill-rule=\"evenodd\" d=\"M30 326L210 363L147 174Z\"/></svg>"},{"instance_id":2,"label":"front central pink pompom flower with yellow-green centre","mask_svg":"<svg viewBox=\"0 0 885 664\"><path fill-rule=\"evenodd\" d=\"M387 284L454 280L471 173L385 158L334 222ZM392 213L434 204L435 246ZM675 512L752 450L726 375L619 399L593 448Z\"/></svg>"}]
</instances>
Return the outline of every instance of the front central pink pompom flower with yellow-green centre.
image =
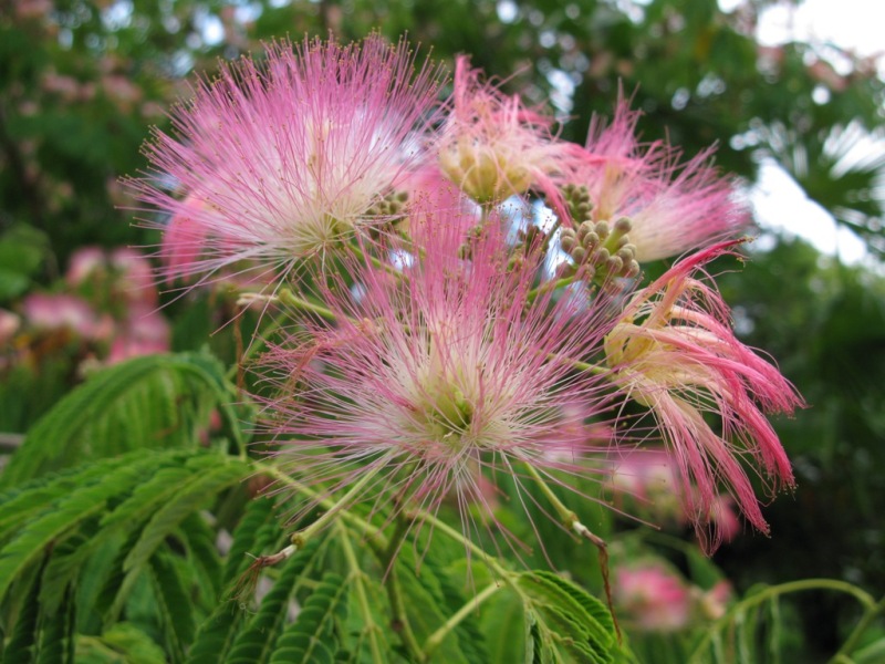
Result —
<instances>
[{"instance_id":1,"label":"front central pink pompom flower with yellow-green centre","mask_svg":"<svg viewBox=\"0 0 885 664\"><path fill-rule=\"evenodd\" d=\"M485 480L522 491L522 464L565 487L602 471L585 423L611 390L571 359L600 352L614 321L550 294L527 309L540 251L514 267L490 224L464 260L462 224L430 217L413 220L426 246L404 278L354 267L357 287L323 293L335 325L306 319L261 374L282 392L267 412L283 467L329 491L366 483L360 499L394 509L455 496L469 535L469 506L493 519Z\"/></svg>"}]
</instances>

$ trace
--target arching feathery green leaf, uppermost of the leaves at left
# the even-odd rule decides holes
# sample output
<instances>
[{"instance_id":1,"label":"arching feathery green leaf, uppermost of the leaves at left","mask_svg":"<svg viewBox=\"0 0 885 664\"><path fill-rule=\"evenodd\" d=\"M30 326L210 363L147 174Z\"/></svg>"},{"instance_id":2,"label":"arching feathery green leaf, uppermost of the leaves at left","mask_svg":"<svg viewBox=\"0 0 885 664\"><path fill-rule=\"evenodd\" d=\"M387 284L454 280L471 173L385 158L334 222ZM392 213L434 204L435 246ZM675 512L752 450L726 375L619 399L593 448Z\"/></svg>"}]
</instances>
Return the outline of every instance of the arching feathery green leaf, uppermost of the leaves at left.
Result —
<instances>
[{"instance_id":1,"label":"arching feathery green leaf, uppermost of the leaves at left","mask_svg":"<svg viewBox=\"0 0 885 664\"><path fill-rule=\"evenodd\" d=\"M146 355L105 369L31 428L0 487L133 449L195 448L212 407L229 398L220 364L206 354Z\"/></svg>"}]
</instances>

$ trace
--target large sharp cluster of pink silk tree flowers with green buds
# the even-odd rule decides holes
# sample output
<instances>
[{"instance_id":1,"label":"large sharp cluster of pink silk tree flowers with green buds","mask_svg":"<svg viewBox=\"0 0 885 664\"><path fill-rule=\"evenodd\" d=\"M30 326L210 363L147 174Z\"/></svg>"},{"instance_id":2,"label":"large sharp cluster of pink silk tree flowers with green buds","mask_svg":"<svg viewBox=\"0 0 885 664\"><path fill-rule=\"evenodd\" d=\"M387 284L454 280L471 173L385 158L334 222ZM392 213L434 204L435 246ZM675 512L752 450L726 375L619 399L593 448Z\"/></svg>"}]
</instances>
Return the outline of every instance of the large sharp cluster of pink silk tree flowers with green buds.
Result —
<instances>
[{"instance_id":1,"label":"large sharp cluster of pink silk tree flowers with green buds","mask_svg":"<svg viewBox=\"0 0 885 664\"><path fill-rule=\"evenodd\" d=\"M733 183L641 144L623 101L579 146L466 58L445 89L378 37L275 43L201 83L131 183L164 278L250 271L279 304L274 454L312 496L454 500L466 531L506 530L503 485L539 488L585 533L556 495L592 478L603 500L611 459L652 446L711 543L720 489L766 530L746 464L792 484L764 414L801 400L704 273L747 224Z\"/></svg>"}]
</instances>

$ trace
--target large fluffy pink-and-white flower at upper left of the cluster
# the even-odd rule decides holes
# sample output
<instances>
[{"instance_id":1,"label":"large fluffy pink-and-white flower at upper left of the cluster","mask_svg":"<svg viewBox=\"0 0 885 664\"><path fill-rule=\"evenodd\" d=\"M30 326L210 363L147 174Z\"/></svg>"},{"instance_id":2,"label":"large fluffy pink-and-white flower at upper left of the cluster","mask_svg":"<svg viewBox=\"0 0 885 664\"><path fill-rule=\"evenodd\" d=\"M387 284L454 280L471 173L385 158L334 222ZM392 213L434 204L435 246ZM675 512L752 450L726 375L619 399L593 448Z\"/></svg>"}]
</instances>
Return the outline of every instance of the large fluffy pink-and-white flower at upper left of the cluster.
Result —
<instances>
[{"instance_id":1,"label":"large fluffy pink-and-white flower at upper left of the cluster","mask_svg":"<svg viewBox=\"0 0 885 664\"><path fill-rule=\"evenodd\" d=\"M405 42L377 35L282 41L266 61L222 65L173 111L175 135L154 133L153 173L129 183L143 211L176 220L159 250L167 269L246 259L285 270L373 224L372 206L421 159L439 80L430 64L416 72Z\"/></svg>"}]
</instances>

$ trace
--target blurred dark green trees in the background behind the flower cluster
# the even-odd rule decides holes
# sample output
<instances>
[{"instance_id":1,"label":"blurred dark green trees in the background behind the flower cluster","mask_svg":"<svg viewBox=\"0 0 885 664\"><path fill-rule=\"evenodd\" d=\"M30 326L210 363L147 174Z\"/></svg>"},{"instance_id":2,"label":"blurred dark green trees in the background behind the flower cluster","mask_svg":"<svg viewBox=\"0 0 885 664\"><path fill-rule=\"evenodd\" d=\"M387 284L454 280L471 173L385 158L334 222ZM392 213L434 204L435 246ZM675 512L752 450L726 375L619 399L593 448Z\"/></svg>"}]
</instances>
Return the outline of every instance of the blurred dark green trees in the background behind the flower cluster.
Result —
<instances>
[{"instance_id":1,"label":"blurred dark green trees in the background behind the flower cluster","mask_svg":"<svg viewBox=\"0 0 885 664\"><path fill-rule=\"evenodd\" d=\"M28 293L66 288L61 278L79 248L157 241L131 225L134 203L118 178L144 167L149 125L167 128L166 108L188 95L194 74L211 75L217 59L258 51L261 40L407 32L445 62L471 54L506 90L546 103L562 135L577 142L594 113L610 115L625 95L645 114L644 139L666 137L689 156L716 143L717 164L747 187L760 164L778 164L866 243L868 264L846 267L802 241L767 236L747 268L721 276L738 331L778 360L811 407L778 423L799 488L768 508L773 537L747 532L716 562L740 590L833 577L881 595L885 151L874 138L885 125L885 84L874 59L832 44L760 45L758 19L774 2L729 4L726 12L716 0L3 0L0 308L21 314ZM174 350L204 344L230 307L218 292L168 303ZM232 359L235 341L226 330L211 344ZM2 324L0 343L0 430L9 434L80 381L84 360L107 353L106 341ZM832 652L852 612L831 595L803 602L809 652Z\"/></svg>"}]
</instances>

